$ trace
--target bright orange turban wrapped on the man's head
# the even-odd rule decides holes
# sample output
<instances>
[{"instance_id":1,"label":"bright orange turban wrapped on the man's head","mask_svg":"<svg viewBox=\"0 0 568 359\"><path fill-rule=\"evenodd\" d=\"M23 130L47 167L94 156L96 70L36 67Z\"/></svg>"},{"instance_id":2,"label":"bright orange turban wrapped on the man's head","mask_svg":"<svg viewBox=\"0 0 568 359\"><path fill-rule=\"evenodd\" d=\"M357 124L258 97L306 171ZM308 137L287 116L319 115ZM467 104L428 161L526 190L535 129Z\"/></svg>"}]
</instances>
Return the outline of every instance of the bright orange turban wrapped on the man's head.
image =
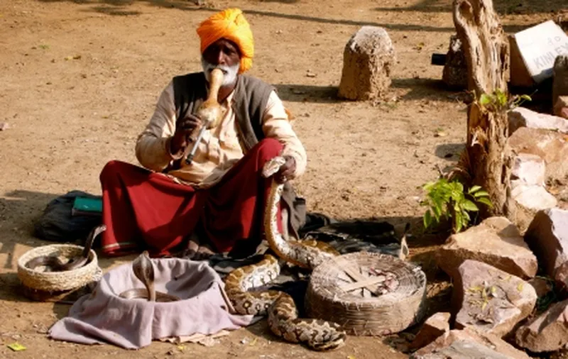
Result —
<instances>
[{"instance_id":1,"label":"bright orange turban wrapped on the man's head","mask_svg":"<svg viewBox=\"0 0 568 359\"><path fill-rule=\"evenodd\" d=\"M249 70L253 65L254 41L249 22L244 18L240 9L226 9L203 21L197 28L197 35L201 38L201 53L219 40L226 38L239 46L241 50L241 66L239 73Z\"/></svg>"}]
</instances>

